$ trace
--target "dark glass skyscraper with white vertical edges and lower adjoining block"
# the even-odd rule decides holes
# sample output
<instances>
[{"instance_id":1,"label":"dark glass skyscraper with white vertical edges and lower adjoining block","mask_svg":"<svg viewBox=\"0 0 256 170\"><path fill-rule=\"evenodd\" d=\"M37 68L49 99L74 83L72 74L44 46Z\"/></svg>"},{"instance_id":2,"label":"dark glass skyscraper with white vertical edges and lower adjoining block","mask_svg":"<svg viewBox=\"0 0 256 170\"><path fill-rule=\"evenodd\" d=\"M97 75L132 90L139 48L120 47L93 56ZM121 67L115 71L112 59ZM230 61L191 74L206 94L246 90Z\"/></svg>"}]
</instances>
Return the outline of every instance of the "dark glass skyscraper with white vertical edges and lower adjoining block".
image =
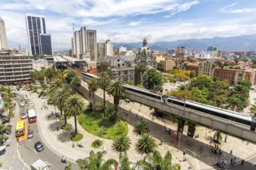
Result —
<instances>
[{"instance_id":1,"label":"dark glass skyscraper with white vertical edges and lower adjoining block","mask_svg":"<svg viewBox=\"0 0 256 170\"><path fill-rule=\"evenodd\" d=\"M50 34L47 34L43 15L26 14L26 31L31 55L52 55Z\"/></svg>"}]
</instances>

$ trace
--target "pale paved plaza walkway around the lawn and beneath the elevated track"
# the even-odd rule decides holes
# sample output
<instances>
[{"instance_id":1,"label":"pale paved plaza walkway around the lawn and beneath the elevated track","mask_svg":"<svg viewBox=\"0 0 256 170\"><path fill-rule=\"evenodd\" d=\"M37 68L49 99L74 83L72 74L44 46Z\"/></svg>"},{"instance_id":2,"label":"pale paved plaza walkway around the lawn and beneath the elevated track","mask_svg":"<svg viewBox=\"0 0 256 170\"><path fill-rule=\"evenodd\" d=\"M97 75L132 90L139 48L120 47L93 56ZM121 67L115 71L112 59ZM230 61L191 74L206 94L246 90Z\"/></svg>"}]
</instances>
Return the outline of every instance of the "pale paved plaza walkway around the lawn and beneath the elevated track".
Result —
<instances>
[{"instance_id":1,"label":"pale paved plaza walkway around the lawn and beneath the elevated track","mask_svg":"<svg viewBox=\"0 0 256 170\"><path fill-rule=\"evenodd\" d=\"M86 87L86 83L83 82L82 85ZM85 90L83 90L83 92L85 94ZM23 91L22 93L25 94L25 91ZM29 94L29 92L26 93ZM102 99L100 98L102 97L102 94L102 90L97 90L97 92L95 93L96 102L102 102ZM57 155L64 155L68 160L75 162L78 158L87 157L89 151L103 150L103 148L95 149L91 147L92 141L101 138L89 134L83 128L81 128L80 124L78 124L78 131L79 133L84 135L84 138L78 143L83 143L85 145L85 148L78 148L76 144L76 147L72 148L73 142L70 141L71 131L57 131L57 127L60 128L61 125L64 124L64 122L56 120L55 117L48 118L50 112L54 111L54 106L49 105L49 110L41 110L43 102L47 103L47 99L38 98L36 93L32 93L31 97L28 95L28 97L30 100L33 101L35 107L34 109L37 113L37 124L40 135L43 138L43 143L47 145L51 150L56 152ZM112 101L112 98L109 97L109 95L106 95L106 100ZM88 101L85 100L85 103L88 104ZM240 159L244 159L251 155L254 155L256 151L255 145L246 145L246 142L242 142L237 138L229 136L227 138L227 143L222 142L221 145L223 155L213 155L209 146L209 136L213 136L214 132L208 130L206 131L206 128L202 127L198 127L197 131L195 132L195 134L199 134L199 138L197 139L189 138L186 135L182 135L180 148L178 149L178 141L173 138L174 131L176 131L177 129L177 124L172 124L170 121L157 118L152 121L151 112L153 110L150 110L149 107L143 105L140 106L140 104L137 103L124 104L122 100L122 104L120 104L119 110L121 113L121 117L126 117L126 121L128 123L128 135L130 136L132 141L132 146L128 151L131 162L137 162L138 160L143 158L143 156L138 155L137 151L135 151L134 144L137 143L138 137L133 134L133 126L141 118L144 119L144 121L147 121L147 124L150 128L150 134L153 135L154 138L156 138L158 151L160 151L162 155L164 155L168 150L171 151L172 162L180 163L182 169L189 168L189 165L192 166L192 169L213 169L213 164L215 164L216 162L220 162L222 159L226 159L228 164L230 164L230 150L233 150L234 155L232 155L232 157L236 157L237 162ZM128 113L127 116L126 113ZM67 120L67 122L73 124L74 127L73 117ZM165 132L164 125L168 128L171 128L171 135ZM74 131L74 129L72 129L72 131ZM102 131L102 129L100 129L99 131ZM186 129L183 134L186 134ZM164 145L159 145L161 143L161 138L164 138ZM118 160L118 154L112 151L112 141L106 139L104 139L103 141L104 150L107 151L107 155L104 156L104 159L115 158L116 160ZM199 151L199 148L201 146L203 150ZM187 150L187 154L185 155L187 161L182 162L183 151L185 149ZM199 157L196 155L199 155Z\"/></svg>"}]
</instances>

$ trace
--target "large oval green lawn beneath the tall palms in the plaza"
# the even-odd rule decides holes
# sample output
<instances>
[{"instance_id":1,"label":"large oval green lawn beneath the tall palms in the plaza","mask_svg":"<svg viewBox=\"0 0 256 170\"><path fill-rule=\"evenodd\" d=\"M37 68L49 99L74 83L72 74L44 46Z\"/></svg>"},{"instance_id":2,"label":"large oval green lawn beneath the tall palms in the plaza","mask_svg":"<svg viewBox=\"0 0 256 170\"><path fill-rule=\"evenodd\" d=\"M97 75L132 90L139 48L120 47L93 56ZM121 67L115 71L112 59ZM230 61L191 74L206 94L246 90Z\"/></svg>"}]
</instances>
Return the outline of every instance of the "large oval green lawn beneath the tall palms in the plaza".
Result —
<instances>
[{"instance_id":1,"label":"large oval green lawn beneath the tall palms in the plaza","mask_svg":"<svg viewBox=\"0 0 256 170\"><path fill-rule=\"evenodd\" d=\"M104 119L100 112L81 114L78 116L78 122L85 131L99 138L102 138L102 126L104 126L103 138L106 139L116 139L121 134L128 134L126 123L117 121L115 125L112 121Z\"/></svg>"}]
</instances>

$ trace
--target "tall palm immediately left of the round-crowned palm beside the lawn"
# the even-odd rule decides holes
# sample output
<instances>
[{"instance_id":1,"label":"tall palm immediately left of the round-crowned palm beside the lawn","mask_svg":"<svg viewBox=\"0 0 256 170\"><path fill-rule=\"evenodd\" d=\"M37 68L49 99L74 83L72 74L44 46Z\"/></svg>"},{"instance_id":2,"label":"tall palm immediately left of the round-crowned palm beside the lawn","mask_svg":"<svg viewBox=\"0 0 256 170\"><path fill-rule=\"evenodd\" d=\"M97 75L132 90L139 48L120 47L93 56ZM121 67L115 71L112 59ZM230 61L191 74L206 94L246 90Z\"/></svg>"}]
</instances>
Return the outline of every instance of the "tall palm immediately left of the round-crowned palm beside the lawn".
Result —
<instances>
[{"instance_id":1,"label":"tall palm immediately left of the round-crowned palm beside the lawn","mask_svg":"<svg viewBox=\"0 0 256 170\"><path fill-rule=\"evenodd\" d=\"M67 86L59 87L57 90L54 91L54 96L52 97L52 101L54 102L54 105L56 105L60 111L62 116L62 111L65 107L65 101L68 97L70 97L72 94L71 90ZM64 122L65 125L67 124L67 117L66 114L64 114Z\"/></svg>"}]
</instances>

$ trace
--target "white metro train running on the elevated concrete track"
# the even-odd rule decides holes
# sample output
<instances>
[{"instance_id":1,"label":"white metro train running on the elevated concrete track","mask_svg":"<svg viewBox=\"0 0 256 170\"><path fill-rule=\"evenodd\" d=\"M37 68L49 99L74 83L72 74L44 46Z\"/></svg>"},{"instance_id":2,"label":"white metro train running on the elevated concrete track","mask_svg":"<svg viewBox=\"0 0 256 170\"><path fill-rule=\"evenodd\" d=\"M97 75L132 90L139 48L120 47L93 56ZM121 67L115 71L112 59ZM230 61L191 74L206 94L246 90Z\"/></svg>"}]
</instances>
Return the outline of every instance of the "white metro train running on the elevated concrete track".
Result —
<instances>
[{"instance_id":1,"label":"white metro train running on the elevated concrete track","mask_svg":"<svg viewBox=\"0 0 256 170\"><path fill-rule=\"evenodd\" d=\"M91 73L82 73L82 79L85 80L85 82L88 82L89 80L91 80L92 77L99 78L99 76L95 76L94 74L91 74ZM164 95L161 93L154 93L150 90L140 88L140 87L130 86L128 84L124 84L123 87L127 91L130 91L132 93L140 93L140 95L143 95L153 100L157 100L159 102L163 102L168 105L175 104L181 107L189 108L191 110L199 111L202 114L210 114L210 115L213 115L213 117L220 117L221 119L224 119L227 121L233 121L238 124L243 124L248 128L250 128L251 131L255 131L255 128L256 128L255 117L247 117L231 110L225 110L219 107L200 104L194 101L179 100L175 97L164 97Z\"/></svg>"}]
</instances>

